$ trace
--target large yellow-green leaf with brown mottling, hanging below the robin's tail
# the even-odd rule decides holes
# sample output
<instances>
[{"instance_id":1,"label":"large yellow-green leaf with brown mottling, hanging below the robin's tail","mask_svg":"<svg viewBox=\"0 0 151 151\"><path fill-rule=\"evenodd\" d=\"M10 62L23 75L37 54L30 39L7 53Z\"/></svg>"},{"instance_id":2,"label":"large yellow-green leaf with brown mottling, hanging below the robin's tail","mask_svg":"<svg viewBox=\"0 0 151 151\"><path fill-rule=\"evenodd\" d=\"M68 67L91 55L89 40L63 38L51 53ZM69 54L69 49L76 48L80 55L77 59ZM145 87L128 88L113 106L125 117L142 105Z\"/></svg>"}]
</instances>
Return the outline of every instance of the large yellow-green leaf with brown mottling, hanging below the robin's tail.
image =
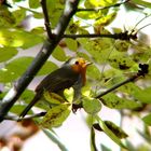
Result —
<instances>
[{"instance_id":1,"label":"large yellow-green leaf with brown mottling, hanging below the robin's tail","mask_svg":"<svg viewBox=\"0 0 151 151\"><path fill-rule=\"evenodd\" d=\"M44 115L40 125L45 128L57 127L63 124L63 122L68 118L71 111L70 104L61 104L53 107Z\"/></svg>"}]
</instances>

